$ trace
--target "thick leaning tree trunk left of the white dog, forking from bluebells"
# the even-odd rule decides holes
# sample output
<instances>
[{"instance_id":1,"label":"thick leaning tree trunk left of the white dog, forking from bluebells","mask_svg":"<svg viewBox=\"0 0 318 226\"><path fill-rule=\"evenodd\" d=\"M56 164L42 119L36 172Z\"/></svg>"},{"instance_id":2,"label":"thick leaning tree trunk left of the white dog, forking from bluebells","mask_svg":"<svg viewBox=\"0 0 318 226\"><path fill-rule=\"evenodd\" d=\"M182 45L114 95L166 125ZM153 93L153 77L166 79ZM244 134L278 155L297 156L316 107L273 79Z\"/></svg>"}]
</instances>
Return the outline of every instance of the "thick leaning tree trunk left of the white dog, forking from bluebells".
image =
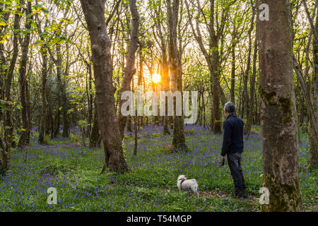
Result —
<instances>
[{"instance_id":1,"label":"thick leaning tree trunk left of the white dog, forking from bluebells","mask_svg":"<svg viewBox=\"0 0 318 226\"><path fill-rule=\"evenodd\" d=\"M105 165L111 171L126 171L129 166L124 157L122 137L114 111L114 87L112 84L112 42L105 23L105 0L81 0L88 25L92 47L95 76L98 122L105 149ZM103 170L102 170L103 171Z\"/></svg>"}]
</instances>

